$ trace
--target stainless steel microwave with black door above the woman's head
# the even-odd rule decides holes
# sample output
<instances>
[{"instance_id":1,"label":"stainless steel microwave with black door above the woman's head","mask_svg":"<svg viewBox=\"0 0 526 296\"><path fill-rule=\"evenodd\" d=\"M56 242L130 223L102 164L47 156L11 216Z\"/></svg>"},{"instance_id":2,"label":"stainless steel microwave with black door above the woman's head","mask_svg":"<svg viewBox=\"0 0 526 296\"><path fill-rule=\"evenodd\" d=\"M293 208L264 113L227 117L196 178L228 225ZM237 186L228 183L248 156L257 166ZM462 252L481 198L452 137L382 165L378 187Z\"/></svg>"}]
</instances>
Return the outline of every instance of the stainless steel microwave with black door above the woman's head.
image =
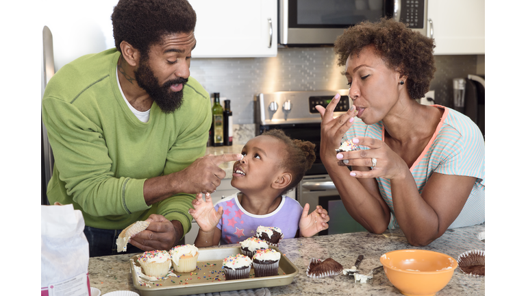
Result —
<instances>
[{"instance_id":1,"label":"stainless steel microwave with black door above the woman's head","mask_svg":"<svg viewBox=\"0 0 526 296\"><path fill-rule=\"evenodd\" d=\"M279 0L278 10L281 45L334 45L346 28L383 16L427 34L427 0Z\"/></svg>"}]
</instances>

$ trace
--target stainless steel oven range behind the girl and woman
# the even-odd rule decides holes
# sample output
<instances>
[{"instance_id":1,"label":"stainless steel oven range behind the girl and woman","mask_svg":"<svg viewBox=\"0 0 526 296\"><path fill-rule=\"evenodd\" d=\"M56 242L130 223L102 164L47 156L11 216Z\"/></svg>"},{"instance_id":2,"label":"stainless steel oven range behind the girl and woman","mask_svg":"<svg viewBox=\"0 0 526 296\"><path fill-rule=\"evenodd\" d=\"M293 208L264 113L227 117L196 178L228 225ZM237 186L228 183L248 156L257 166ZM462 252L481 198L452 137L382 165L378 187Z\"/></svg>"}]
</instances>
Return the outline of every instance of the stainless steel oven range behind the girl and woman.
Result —
<instances>
[{"instance_id":1,"label":"stainless steel oven range behind the girl and woman","mask_svg":"<svg viewBox=\"0 0 526 296\"><path fill-rule=\"evenodd\" d=\"M347 89L259 94L254 101L256 134L279 128L291 138L309 140L316 145L316 161L297 186L296 199L301 206L310 204L311 211L320 205L329 213L329 229L320 235L365 231L345 210L338 190L320 160L321 117L314 106L327 106L336 93L342 96L336 107L335 115L338 116L347 112L352 104Z\"/></svg>"}]
</instances>

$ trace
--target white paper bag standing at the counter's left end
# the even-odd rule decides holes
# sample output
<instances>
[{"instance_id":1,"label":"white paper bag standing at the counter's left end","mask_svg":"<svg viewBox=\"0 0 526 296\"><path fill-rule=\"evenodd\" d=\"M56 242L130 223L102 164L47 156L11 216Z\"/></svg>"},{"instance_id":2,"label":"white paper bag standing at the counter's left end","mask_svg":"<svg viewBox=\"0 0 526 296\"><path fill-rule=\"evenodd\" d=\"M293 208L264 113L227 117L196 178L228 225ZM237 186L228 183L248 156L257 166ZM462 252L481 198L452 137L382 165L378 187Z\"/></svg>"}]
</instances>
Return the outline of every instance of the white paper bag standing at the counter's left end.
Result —
<instances>
[{"instance_id":1,"label":"white paper bag standing at the counter's left end","mask_svg":"<svg viewBox=\"0 0 526 296\"><path fill-rule=\"evenodd\" d=\"M71 204L41 209L41 295L90 295L90 249L82 212Z\"/></svg>"}]
</instances>

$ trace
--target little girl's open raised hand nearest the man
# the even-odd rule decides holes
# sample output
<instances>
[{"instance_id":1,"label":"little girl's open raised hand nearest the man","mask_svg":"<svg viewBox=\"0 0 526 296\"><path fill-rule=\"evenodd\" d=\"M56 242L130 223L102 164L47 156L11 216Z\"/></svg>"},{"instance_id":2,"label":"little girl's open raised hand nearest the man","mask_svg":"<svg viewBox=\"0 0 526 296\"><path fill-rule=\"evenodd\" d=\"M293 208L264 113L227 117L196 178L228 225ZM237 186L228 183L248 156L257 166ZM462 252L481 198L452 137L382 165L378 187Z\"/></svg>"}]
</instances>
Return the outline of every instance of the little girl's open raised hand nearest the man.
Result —
<instances>
[{"instance_id":1,"label":"little girl's open raised hand nearest the man","mask_svg":"<svg viewBox=\"0 0 526 296\"><path fill-rule=\"evenodd\" d=\"M192 201L192 206L194 206L194 208L190 208L188 212L194 217L201 231L214 231L217 223L219 223L219 219L223 216L223 207L219 207L218 211L214 209L210 193L206 193L205 201L203 201L202 193L197 194Z\"/></svg>"}]
</instances>

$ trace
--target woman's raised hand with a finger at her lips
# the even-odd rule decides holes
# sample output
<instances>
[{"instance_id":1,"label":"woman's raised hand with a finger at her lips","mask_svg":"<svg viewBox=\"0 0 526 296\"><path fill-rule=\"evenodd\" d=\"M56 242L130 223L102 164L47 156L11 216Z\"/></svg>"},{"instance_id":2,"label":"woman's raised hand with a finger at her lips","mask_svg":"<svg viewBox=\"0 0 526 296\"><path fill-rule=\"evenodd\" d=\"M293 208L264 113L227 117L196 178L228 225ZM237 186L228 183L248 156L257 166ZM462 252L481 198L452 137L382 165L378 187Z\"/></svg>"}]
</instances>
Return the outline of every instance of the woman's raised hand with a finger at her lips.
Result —
<instances>
[{"instance_id":1,"label":"woman's raised hand with a finger at her lips","mask_svg":"<svg viewBox=\"0 0 526 296\"><path fill-rule=\"evenodd\" d=\"M320 158L323 162L334 159L335 150L340 147L343 135L353 124L354 116L356 115L355 107L352 106L345 114L334 118L334 109L338 101L340 101L340 94L334 96L327 105L327 109L319 105L316 106L316 110L321 114Z\"/></svg>"}]
</instances>

